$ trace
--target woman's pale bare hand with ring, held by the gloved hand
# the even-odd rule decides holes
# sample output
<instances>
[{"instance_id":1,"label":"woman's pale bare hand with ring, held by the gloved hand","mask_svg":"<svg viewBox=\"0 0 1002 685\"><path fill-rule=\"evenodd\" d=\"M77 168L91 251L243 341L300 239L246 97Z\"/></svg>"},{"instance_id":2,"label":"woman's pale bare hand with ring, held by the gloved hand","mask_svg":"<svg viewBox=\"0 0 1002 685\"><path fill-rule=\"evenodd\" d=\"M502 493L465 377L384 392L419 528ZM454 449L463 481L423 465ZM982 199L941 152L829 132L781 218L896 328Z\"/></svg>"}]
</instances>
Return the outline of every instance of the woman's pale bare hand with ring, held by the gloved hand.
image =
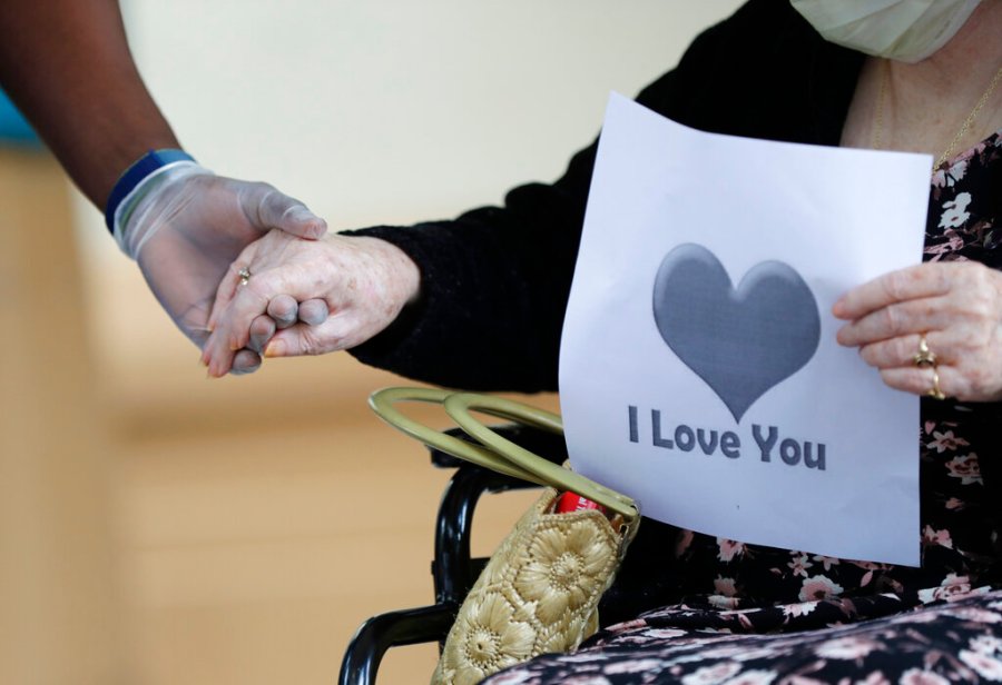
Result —
<instances>
[{"instance_id":1,"label":"woman's pale bare hand with ring, held by the gloved hand","mask_svg":"<svg viewBox=\"0 0 1002 685\"><path fill-rule=\"evenodd\" d=\"M239 274L249 271L249 278ZM272 231L236 259L219 286L213 309L213 334L203 361L209 376L229 369L234 350L265 345L266 357L321 355L348 349L385 329L405 305L418 298L418 266L400 248L377 238L328 235L305 241ZM326 310L302 311L320 299ZM295 324L274 329L261 317L276 302L301 306L299 318L318 325ZM268 340L268 338L271 339ZM265 343L267 340L267 343Z\"/></svg>"}]
</instances>

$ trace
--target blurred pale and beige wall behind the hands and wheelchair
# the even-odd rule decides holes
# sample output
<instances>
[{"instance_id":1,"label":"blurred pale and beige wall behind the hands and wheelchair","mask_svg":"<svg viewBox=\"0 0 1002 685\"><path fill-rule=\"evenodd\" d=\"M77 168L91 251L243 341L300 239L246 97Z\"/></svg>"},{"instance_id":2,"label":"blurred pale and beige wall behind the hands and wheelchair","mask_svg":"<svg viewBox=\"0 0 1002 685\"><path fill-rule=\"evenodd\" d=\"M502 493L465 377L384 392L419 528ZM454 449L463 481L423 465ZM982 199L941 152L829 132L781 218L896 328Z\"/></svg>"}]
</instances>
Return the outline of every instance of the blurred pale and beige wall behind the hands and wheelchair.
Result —
<instances>
[{"instance_id":1,"label":"blurred pale and beige wall behind the hands and wheelchair","mask_svg":"<svg viewBox=\"0 0 1002 685\"><path fill-rule=\"evenodd\" d=\"M124 11L187 149L341 229L448 217L554 179L598 132L610 90L635 93L737 4L124 0ZM19 498L0 599L20 607L0 622L13 636L0 663L17 665L0 681L332 682L366 616L432 599L446 475L364 406L399 379L334 355L206 380L59 170L21 155L0 170L29 185L3 193L4 224L50 231L8 238L0 254L20 257L0 260L0 286L66 286L48 309L0 298L30 334L0 366L0 466L19 478L6 480ZM45 217L16 211L29 191L51 198ZM55 261L52 231L67 246ZM482 553L523 506L488 504ZM27 523L39 512L50 525ZM52 563L60 549L71 565ZM433 649L404 649L381 682L423 681L433 662Z\"/></svg>"}]
</instances>

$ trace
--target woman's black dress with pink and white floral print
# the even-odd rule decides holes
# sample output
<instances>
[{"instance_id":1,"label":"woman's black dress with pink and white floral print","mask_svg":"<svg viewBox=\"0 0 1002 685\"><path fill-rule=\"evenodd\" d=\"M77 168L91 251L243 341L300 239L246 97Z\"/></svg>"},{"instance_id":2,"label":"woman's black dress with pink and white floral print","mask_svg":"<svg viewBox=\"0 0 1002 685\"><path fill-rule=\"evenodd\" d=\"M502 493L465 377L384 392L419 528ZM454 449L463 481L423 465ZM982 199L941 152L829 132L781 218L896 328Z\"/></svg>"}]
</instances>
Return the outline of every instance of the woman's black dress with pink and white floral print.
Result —
<instances>
[{"instance_id":1,"label":"woman's black dress with pink and white floral print","mask_svg":"<svg viewBox=\"0 0 1002 685\"><path fill-rule=\"evenodd\" d=\"M933 175L924 260L1002 269L1000 210L1002 131ZM646 519L603 604L618 623L485 682L1002 682L1002 405L923 398L921 415L918 568Z\"/></svg>"}]
</instances>

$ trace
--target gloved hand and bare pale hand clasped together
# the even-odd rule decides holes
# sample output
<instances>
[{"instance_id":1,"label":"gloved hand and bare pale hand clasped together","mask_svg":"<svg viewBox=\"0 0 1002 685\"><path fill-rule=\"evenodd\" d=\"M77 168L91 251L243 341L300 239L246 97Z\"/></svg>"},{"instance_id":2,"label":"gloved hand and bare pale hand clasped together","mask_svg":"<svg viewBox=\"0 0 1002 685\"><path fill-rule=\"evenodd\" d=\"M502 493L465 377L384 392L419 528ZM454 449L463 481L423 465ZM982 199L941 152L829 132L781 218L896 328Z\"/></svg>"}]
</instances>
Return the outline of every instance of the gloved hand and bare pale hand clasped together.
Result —
<instances>
[{"instance_id":1,"label":"gloved hand and bare pale hand clasped together","mask_svg":"<svg viewBox=\"0 0 1002 685\"><path fill-rule=\"evenodd\" d=\"M353 347L416 297L418 267L403 251L325 235L323 219L267 183L191 162L137 188L128 212L116 214L116 237L203 349L210 376L254 371L265 350L277 357ZM244 268L250 278L242 278Z\"/></svg>"}]
</instances>

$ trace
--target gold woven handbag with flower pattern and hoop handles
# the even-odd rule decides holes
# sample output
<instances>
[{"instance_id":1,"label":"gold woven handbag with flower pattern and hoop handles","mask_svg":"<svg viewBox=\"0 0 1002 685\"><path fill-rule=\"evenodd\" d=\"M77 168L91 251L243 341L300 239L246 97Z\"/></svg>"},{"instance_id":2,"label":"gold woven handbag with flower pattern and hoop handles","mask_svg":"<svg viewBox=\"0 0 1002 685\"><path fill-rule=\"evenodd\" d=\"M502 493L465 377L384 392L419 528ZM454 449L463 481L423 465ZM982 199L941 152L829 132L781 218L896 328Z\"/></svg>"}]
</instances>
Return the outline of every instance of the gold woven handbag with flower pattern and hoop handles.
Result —
<instances>
[{"instance_id":1,"label":"gold woven handbag with flower pattern and hoop handles","mask_svg":"<svg viewBox=\"0 0 1002 685\"><path fill-rule=\"evenodd\" d=\"M407 418L394 406L401 400L441 404L477 444ZM472 685L540 654L570 652L592 635L599 599L637 533L637 504L502 438L471 411L562 435L560 417L500 397L431 388L386 388L374 393L370 405L390 425L430 447L546 487L466 595L432 683ZM568 492L605 512L554 512Z\"/></svg>"}]
</instances>

